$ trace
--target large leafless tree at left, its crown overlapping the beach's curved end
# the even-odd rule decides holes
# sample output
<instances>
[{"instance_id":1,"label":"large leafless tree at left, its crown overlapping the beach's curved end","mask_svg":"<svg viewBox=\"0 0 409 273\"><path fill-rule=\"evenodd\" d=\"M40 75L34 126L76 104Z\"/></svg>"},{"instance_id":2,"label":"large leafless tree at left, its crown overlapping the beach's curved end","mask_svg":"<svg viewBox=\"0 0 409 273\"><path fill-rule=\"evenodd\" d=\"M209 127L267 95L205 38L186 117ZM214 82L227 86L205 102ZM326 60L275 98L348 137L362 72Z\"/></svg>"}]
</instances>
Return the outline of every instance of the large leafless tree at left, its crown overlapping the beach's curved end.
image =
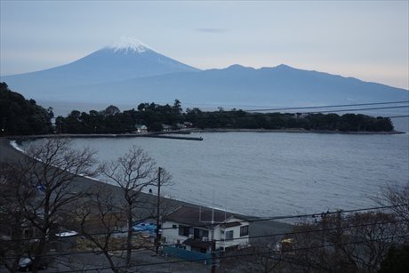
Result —
<instances>
[{"instance_id":1,"label":"large leafless tree at left, its crown overlapping the beach's curved end","mask_svg":"<svg viewBox=\"0 0 409 273\"><path fill-rule=\"evenodd\" d=\"M24 221L36 230L36 244L30 245L28 253L33 261L32 271L36 272L52 243L50 237L55 237L60 218L70 211L70 205L84 197L86 190L77 192L73 183L79 176L94 174L94 153L90 149L74 149L62 139L38 141L26 153L28 157L10 163L13 167L9 171L20 175L20 189L14 191L12 198L19 204ZM10 175L5 179L13 181ZM3 197L4 192L0 195Z\"/></svg>"}]
</instances>

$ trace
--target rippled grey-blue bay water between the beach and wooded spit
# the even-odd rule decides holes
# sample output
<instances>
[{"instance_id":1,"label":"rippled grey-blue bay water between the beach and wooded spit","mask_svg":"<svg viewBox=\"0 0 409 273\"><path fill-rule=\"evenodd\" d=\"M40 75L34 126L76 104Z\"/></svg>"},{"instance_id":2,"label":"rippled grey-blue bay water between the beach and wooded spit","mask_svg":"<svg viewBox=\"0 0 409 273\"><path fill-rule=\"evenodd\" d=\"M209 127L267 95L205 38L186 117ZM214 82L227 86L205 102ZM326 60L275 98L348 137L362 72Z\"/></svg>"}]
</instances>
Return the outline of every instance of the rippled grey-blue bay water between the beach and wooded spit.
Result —
<instances>
[{"instance_id":1,"label":"rippled grey-blue bay water between the beach and wooded spit","mask_svg":"<svg viewBox=\"0 0 409 273\"><path fill-rule=\"evenodd\" d=\"M161 192L254 216L322 213L376 205L387 185L409 180L409 134L201 132L204 141L76 139L100 161L139 146L172 174ZM148 189L147 189L148 190ZM153 189L154 192L156 189Z\"/></svg>"}]
</instances>

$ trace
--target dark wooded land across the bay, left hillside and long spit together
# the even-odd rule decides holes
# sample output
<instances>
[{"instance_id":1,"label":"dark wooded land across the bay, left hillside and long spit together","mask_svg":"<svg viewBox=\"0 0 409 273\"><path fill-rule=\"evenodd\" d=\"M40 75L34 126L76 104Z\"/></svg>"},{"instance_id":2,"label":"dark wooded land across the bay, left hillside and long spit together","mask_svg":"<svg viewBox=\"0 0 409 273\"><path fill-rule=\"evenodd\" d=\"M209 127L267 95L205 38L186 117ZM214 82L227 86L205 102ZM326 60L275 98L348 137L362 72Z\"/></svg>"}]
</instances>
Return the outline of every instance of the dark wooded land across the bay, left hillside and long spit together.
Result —
<instances>
[{"instance_id":1,"label":"dark wooded land across the bay, left hillside and long spit together","mask_svg":"<svg viewBox=\"0 0 409 273\"><path fill-rule=\"evenodd\" d=\"M197 129L301 129L307 132L393 132L388 117L361 114L323 113L259 113L233 108L202 111L187 108L183 111L180 100L172 105L140 103L138 107L121 111L110 105L104 110L77 110L68 116L57 116L52 125L52 108L42 108L35 100L0 84L0 121L2 132L8 135L44 133L129 133L143 126L148 132Z\"/></svg>"}]
</instances>

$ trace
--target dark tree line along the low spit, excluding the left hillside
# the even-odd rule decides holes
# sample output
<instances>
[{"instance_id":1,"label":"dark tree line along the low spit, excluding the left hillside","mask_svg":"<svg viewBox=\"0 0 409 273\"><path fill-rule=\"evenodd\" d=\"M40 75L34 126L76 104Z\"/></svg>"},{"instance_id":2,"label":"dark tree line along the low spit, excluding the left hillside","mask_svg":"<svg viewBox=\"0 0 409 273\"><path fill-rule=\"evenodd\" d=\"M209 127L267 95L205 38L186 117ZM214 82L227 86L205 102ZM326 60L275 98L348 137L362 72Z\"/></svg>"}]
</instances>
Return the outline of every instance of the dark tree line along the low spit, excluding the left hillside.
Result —
<instances>
[{"instance_id":1,"label":"dark tree line along the low spit, excluding the left hillside","mask_svg":"<svg viewBox=\"0 0 409 273\"><path fill-rule=\"evenodd\" d=\"M389 118L365 116L361 114L282 114L251 113L240 109L225 111L202 111L188 108L183 112L180 100L171 106L156 103L140 103L137 109L121 112L115 106L109 106L100 112L89 113L72 111L67 117L56 120L57 132L133 132L136 124L148 126L148 131L159 132L163 124L176 130L180 124L193 124L196 128L226 129L291 129L325 130L340 132L389 132L394 129Z\"/></svg>"}]
</instances>

